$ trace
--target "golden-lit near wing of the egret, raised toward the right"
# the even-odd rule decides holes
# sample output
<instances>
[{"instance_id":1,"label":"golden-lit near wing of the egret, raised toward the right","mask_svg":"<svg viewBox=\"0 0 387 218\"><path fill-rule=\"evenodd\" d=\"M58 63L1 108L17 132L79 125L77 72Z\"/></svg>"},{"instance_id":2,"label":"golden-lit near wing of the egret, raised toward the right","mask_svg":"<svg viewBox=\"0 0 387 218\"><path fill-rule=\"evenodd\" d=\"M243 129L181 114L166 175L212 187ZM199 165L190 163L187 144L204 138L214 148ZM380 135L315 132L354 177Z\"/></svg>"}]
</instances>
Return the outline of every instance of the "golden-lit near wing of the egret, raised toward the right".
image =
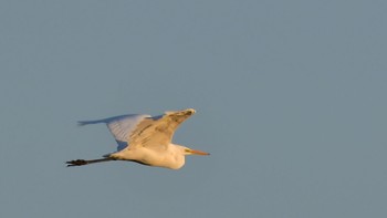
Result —
<instances>
[{"instance_id":1,"label":"golden-lit near wing of the egret, raised toward the right","mask_svg":"<svg viewBox=\"0 0 387 218\"><path fill-rule=\"evenodd\" d=\"M177 127L194 113L195 110L185 110L144 118L127 141L130 146L151 147L156 150L166 149Z\"/></svg>"}]
</instances>

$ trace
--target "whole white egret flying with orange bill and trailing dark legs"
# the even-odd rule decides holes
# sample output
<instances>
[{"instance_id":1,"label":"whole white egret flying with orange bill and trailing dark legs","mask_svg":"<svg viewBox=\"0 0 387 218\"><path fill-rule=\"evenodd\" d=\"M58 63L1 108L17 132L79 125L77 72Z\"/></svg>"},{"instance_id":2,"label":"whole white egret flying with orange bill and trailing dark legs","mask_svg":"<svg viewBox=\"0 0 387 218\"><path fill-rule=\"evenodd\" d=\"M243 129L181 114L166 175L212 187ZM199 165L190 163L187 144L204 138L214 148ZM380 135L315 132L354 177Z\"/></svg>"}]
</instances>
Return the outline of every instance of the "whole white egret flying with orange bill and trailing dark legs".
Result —
<instances>
[{"instance_id":1,"label":"whole white egret flying with orange bill and trailing dark legs","mask_svg":"<svg viewBox=\"0 0 387 218\"><path fill-rule=\"evenodd\" d=\"M148 166L179 169L185 165L186 155L209 155L209 153L172 144L178 126L194 115L194 108L165 112L159 116L128 114L97 121L81 121L79 125L107 125L118 146L117 152L100 159L75 159L67 166L83 166L109 160L128 160Z\"/></svg>"}]
</instances>

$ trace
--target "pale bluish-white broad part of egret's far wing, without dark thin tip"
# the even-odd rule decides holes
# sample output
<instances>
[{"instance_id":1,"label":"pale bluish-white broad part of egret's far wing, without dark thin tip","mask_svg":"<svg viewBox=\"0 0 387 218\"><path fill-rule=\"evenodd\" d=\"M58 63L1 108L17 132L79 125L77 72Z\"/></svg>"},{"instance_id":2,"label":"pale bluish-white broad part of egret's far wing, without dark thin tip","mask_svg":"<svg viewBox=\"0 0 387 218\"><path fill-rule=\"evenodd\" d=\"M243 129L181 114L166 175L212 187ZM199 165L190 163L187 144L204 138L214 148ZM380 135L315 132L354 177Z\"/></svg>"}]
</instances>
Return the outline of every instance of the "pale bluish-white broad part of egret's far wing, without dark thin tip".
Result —
<instances>
[{"instance_id":1,"label":"pale bluish-white broad part of egret's far wing, without dark thin tip","mask_svg":"<svg viewBox=\"0 0 387 218\"><path fill-rule=\"evenodd\" d=\"M104 123L106 123L118 144L117 150L122 150L129 145L127 141L129 135L137 129L139 123L148 117L150 117L150 115L129 114L104 120Z\"/></svg>"}]
</instances>

